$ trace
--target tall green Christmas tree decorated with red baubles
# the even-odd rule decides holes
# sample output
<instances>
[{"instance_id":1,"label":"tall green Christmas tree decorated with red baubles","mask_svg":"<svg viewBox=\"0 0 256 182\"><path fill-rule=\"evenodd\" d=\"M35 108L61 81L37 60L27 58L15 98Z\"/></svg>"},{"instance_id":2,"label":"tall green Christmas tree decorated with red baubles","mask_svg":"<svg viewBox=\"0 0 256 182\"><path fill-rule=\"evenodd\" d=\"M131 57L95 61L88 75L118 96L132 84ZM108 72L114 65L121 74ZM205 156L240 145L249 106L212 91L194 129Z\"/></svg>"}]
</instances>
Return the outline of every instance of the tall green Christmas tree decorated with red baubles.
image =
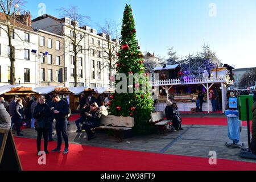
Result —
<instances>
[{"instance_id":1,"label":"tall green Christmas tree decorated with red baubles","mask_svg":"<svg viewBox=\"0 0 256 182\"><path fill-rule=\"evenodd\" d=\"M143 55L139 51L140 47L136 39L135 22L130 5L126 5L123 13L121 35L121 44L117 53L118 61L115 67L117 75L123 73L127 76L127 80L125 80L127 84L122 86L123 88L127 86L127 93L115 93L110 97L109 113L116 116L133 117L136 133L150 134L155 131L154 125L149 122L150 114L154 111L154 101L151 98L148 75L144 73ZM134 79L133 84L129 85L129 77L135 73L143 76L143 79ZM115 81L116 86L118 83L119 81ZM141 89L142 85L146 85L147 89ZM129 89L132 89L133 92L128 93Z\"/></svg>"}]
</instances>

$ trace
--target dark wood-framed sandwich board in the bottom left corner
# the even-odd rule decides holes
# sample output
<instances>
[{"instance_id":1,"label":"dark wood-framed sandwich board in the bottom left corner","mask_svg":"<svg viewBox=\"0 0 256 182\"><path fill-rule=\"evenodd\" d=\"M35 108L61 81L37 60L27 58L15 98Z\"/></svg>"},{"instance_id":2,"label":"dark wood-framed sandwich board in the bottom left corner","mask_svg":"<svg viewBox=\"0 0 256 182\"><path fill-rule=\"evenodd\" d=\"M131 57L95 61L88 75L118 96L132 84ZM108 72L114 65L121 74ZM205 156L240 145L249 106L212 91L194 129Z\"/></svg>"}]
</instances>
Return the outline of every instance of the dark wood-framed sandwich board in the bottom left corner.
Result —
<instances>
[{"instance_id":1,"label":"dark wood-framed sandwich board in the bottom left corner","mask_svg":"<svg viewBox=\"0 0 256 182\"><path fill-rule=\"evenodd\" d=\"M0 171L22 171L11 130L0 129Z\"/></svg>"}]
</instances>

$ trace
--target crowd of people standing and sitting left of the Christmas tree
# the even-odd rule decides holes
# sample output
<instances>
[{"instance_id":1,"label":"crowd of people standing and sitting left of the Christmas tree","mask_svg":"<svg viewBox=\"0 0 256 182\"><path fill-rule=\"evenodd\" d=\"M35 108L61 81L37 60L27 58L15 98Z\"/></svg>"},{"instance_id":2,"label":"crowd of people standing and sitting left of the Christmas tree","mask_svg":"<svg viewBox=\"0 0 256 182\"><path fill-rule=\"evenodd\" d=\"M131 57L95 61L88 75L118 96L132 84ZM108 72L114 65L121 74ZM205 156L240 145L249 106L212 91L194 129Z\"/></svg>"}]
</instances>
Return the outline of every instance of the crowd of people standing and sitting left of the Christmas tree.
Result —
<instances>
[{"instance_id":1,"label":"crowd of people standing and sitting left of the Christmas tree","mask_svg":"<svg viewBox=\"0 0 256 182\"><path fill-rule=\"evenodd\" d=\"M81 94L80 105L77 111L80 112L80 119L76 121L77 131L85 130L90 140L94 137L92 129L100 126L101 115L108 115L108 102L110 96L104 97L99 95L97 98L94 94L88 97L85 93ZM63 154L68 153L68 119L71 116L71 109L67 96L59 94L47 94L46 96L20 98L15 95L10 103L5 98L0 98L0 128L11 129L16 132L17 137L22 137L20 128L26 126L35 128L37 131L37 150L38 155L41 151L41 139L44 139L44 152L48 152L48 142L53 141L53 122L57 135L57 146L52 152L60 152L62 138L64 139L65 148Z\"/></svg>"}]
</instances>

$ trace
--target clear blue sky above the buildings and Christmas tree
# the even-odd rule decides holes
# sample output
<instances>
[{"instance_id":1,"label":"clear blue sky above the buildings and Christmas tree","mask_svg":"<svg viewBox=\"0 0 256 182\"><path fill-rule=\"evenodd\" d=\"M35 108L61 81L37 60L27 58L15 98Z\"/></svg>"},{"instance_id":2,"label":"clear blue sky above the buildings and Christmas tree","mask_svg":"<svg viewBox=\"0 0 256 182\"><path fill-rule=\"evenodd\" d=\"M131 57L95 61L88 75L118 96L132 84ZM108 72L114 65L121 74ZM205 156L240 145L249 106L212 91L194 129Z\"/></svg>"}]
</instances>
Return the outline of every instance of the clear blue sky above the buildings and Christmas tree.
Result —
<instances>
[{"instance_id":1,"label":"clear blue sky above the buildings and Christmas tree","mask_svg":"<svg viewBox=\"0 0 256 182\"><path fill-rule=\"evenodd\" d=\"M174 47L178 55L187 56L206 43L222 63L256 67L255 0L27 0L33 18L39 3L58 18L60 7L79 6L80 14L90 16L86 24L96 29L105 19L122 23L125 4L131 3L141 51L167 58L167 49Z\"/></svg>"}]
</instances>

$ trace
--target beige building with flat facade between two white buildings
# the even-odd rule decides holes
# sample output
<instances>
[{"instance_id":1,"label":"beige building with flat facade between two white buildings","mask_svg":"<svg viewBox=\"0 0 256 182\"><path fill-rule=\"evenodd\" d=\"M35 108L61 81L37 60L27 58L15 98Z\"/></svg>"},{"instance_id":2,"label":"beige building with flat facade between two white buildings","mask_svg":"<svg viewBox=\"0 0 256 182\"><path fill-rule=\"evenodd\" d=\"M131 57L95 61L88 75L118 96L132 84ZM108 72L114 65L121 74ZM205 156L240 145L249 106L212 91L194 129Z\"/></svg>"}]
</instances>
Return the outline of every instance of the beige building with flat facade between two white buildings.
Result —
<instances>
[{"instance_id":1,"label":"beige building with flat facade between two white buildings","mask_svg":"<svg viewBox=\"0 0 256 182\"><path fill-rule=\"evenodd\" d=\"M36 31L39 33L39 86L65 86L64 37Z\"/></svg>"}]
</instances>

